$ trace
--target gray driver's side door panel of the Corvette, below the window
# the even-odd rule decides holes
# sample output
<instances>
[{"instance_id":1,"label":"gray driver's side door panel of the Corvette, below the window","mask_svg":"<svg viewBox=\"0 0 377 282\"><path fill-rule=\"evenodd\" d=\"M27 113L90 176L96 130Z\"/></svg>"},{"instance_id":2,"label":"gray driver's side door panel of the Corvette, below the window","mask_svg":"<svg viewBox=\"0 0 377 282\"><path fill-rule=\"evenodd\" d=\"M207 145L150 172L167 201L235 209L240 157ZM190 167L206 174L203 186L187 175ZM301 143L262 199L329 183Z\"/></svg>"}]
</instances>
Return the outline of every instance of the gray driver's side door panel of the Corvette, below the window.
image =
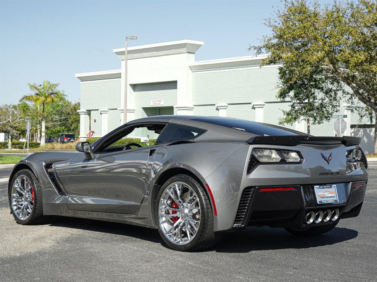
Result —
<instances>
[{"instance_id":1,"label":"gray driver's side door panel of the Corvette, below the window","mask_svg":"<svg viewBox=\"0 0 377 282\"><path fill-rule=\"evenodd\" d=\"M77 211L132 214L146 181L149 151L154 146L95 153L87 160L78 153L67 167L68 208Z\"/></svg>"}]
</instances>

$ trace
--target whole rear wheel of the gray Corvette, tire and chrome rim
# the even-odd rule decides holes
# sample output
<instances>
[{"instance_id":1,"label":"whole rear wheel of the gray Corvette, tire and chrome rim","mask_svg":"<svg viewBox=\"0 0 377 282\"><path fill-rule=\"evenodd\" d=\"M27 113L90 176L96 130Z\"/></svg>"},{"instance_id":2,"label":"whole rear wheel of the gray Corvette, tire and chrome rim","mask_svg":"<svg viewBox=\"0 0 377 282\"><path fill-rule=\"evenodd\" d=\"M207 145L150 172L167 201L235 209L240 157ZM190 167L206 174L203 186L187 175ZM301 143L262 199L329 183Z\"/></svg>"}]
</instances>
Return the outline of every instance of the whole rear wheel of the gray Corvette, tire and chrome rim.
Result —
<instances>
[{"instance_id":1,"label":"whole rear wheel of the gray Corvette, tire and chrome rim","mask_svg":"<svg viewBox=\"0 0 377 282\"><path fill-rule=\"evenodd\" d=\"M161 187L155 209L158 231L179 251L208 249L222 233L213 232L213 215L204 188L191 176L179 174Z\"/></svg>"}]
</instances>

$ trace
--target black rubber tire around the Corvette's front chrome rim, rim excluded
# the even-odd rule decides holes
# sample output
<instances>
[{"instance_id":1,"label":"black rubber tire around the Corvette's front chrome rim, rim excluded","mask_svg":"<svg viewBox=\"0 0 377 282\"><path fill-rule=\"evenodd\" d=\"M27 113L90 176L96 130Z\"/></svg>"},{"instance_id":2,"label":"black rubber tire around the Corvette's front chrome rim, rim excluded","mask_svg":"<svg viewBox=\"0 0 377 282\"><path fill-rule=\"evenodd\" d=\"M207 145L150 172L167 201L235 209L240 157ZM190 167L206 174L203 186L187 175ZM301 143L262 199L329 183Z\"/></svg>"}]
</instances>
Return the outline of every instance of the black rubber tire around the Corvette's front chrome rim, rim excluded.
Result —
<instances>
[{"instance_id":1,"label":"black rubber tire around the Corvette's front chrome rim, rim excluded","mask_svg":"<svg viewBox=\"0 0 377 282\"><path fill-rule=\"evenodd\" d=\"M30 179L30 181L32 182L32 190L33 190L33 193L34 193L34 204L33 204L33 207L32 207L32 211L31 211L29 217L26 218L25 220L18 218L17 215L14 214L14 211L12 209L12 202L11 202L12 186L14 185L14 181L21 174L26 175ZM12 213L14 219L19 224L23 224L23 225L40 224L40 223L44 223L44 222L48 221L51 218L51 216L44 216L43 215L42 188L41 188L41 186L38 182L37 177L35 177L35 174L31 170L23 169L23 170L18 171L13 176L12 182L11 182L11 187L10 187L9 193L8 193L8 197L9 197L9 206L11 208L11 213Z\"/></svg>"}]
</instances>

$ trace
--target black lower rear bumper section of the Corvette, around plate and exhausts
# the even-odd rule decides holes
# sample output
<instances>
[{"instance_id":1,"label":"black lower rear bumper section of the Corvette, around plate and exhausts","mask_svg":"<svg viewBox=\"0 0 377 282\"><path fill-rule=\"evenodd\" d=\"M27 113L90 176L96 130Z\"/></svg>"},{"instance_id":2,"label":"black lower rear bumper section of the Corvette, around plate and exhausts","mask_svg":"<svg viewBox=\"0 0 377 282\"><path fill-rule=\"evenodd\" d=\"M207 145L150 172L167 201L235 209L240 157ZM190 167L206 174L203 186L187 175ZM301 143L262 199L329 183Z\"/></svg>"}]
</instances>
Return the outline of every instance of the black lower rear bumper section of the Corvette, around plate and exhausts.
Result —
<instances>
[{"instance_id":1,"label":"black lower rear bumper section of the Corvette, around plate and exhausts","mask_svg":"<svg viewBox=\"0 0 377 282\"><path fill-rule=\"evenodd\" d=\"M314 185L297 185L291 191L261 191L263 186L248 187L242 192L240 204L232 230L244 229L247 226L268 225L270 227L309 227L331 224L333 221L307 224L305 215L327 210L338 209L340 218L359 215L364 200L364 185L355 183L334 183L337 185L339 202L336 204L317 204ZM361 182L362 183L362 182ZM270 186L269 186L270 187Z\"/></svg>"}]
</instances>

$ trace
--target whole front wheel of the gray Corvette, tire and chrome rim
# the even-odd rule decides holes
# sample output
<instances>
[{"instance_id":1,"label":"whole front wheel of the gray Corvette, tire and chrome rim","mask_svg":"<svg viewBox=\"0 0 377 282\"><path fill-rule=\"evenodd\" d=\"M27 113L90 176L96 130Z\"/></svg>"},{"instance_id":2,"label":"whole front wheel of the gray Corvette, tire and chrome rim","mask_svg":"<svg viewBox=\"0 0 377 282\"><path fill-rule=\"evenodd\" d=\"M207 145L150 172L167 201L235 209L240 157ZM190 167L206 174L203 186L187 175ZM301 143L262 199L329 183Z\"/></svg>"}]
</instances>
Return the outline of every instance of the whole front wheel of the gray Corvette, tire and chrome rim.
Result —
<instances>
[{"instance_id":1,"label":"whole front wheel of the gray Corvette, tire and chrome rim","mask_svg":"<svg viewBox=\"0 0 377 282\"><path fill-rule=\"evenodd\" d=\"M42 212L42 193L37 177L28 169L18 171L9 189L11 213L19 224L36 224L48 220Z\"/></svg>"}]
</instances>

